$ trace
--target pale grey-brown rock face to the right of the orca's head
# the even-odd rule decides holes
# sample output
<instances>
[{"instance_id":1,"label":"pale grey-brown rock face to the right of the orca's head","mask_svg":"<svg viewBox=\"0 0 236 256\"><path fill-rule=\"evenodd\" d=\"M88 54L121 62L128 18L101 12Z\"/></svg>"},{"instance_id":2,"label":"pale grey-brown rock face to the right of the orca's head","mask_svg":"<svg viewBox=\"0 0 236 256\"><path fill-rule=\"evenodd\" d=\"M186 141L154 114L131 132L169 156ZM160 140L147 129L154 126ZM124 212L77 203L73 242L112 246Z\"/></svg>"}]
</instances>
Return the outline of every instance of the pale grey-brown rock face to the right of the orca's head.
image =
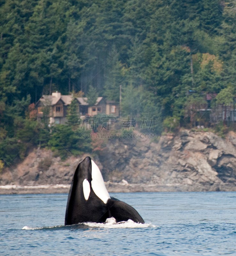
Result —
<instances>
[{"instance_id":1,"label":"pale grey-brown rock face to the right of the orca's head","mask_svg":"<svg viewBox=\"0 0 236 256\"><path fill-rule=\"evenodd\" d=\"M105 180L111 182L125 179L161 191L236 190L235 138L233 132L222 139L212 132L182 130L162 136L158 143L126 141L125 149L119 146L122 140L110 141L99 159Z\"/></svg>"}]
</instances>

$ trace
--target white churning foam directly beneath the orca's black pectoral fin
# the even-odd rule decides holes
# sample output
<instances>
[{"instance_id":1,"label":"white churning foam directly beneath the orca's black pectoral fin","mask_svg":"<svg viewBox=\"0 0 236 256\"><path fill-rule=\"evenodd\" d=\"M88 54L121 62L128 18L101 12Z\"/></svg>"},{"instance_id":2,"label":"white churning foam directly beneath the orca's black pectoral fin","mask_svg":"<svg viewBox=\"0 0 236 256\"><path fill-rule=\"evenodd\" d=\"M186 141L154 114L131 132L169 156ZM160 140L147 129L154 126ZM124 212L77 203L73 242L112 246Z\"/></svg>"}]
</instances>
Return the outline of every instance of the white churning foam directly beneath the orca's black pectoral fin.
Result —
<instances>
[{"instance_id":1,"label":"white churning foam directly beneath the orca's black pectoral fin","mask_svg":"<svg viewBox=\"0 0 236 256\"><path fill-rule=\"evenodd\" d=\"M91 228L155 228L156 226L148 223L136 223L133 220L116 222L116 219L111 217L106 220L105 223L95 223L95 222L84 222L86 226Z\"/></svg>"}]
</instances>

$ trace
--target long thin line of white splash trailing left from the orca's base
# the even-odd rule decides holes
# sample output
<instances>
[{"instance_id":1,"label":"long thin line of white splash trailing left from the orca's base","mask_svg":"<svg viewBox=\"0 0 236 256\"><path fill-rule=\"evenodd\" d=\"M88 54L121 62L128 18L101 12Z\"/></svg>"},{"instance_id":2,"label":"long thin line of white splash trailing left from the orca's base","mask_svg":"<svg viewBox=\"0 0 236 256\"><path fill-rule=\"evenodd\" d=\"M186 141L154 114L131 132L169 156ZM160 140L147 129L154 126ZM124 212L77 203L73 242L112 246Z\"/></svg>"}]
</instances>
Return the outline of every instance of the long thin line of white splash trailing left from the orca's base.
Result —
<instances>
[{"instance_id":1,"label":"long thin line of white splash trailing left from the orca's base","mask_svg":"<svg viewBox=\"0 0 236 256\"><path fill-rule=\"evenodd\" d=\"M74 225L68 226L52 226L52 227L28 227L25 226L22 229L24 230L43 230L43 229L78 229L78 228L155 228L155 225L149 223L136 223L133 220L120 221L116 222L116 219L111 217L106 220L104 223L96 223L96 222L83 222Z\"/></svg>"}]
</instances>

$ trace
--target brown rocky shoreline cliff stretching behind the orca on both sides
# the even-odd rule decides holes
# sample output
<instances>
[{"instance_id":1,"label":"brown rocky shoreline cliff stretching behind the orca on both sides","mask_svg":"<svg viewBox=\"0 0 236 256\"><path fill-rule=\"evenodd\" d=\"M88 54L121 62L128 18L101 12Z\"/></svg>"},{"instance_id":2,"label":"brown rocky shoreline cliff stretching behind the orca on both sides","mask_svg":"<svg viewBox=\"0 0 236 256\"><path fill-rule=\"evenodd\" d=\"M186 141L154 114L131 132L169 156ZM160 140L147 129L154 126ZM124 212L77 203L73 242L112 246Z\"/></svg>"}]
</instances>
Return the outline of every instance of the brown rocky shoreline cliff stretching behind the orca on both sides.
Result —
<instances>
[{"instance_id":1,"label":"brown rocky shoreline cliff stretching behind the orca on both sides","mask_svg":"<svg viewBox=\"0 0 236 256\"><path fill-rule=\"evenodd\" d=\"M70 184L85 156L61 161L35 149L15 168L0 174L0 185ZM235 191L236 133L225 139L212 132L181 130L152 139L110 139L91 156L108 190Z\"/></svg>"}]
</instances>

